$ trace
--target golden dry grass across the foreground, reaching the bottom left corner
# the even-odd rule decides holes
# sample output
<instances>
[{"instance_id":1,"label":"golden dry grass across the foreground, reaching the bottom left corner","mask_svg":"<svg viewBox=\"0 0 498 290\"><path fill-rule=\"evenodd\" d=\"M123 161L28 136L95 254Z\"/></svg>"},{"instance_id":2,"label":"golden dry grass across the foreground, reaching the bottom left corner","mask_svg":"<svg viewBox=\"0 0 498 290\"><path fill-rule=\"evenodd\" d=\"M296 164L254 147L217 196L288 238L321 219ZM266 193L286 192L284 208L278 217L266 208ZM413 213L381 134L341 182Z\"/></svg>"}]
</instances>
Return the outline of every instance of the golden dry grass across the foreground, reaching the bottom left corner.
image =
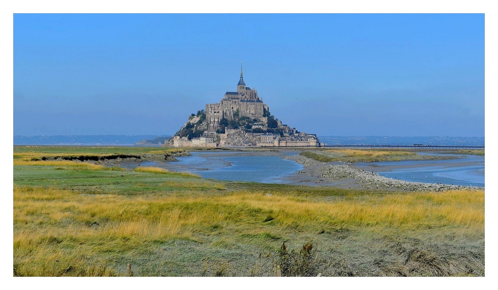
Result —
<instances>
[{"instance_id":1,"label":"golden dry grass across the foreground, reaching the bottom left corner","mask_svg":"<svg viewBox=\"0 0 498 290\"><path fill-rule=\"evenodd\" d=\"M483 191L351 195L311 201L250 191L121 196L15 187L13 197L14 267L20 276L123 275L106 260L109 255L143 252L154 241L203 239L213 225L227 229L226 243L341 227L484 233ZM55 260L63 263L54 264Z\"/></svg>"}]
</instances>

